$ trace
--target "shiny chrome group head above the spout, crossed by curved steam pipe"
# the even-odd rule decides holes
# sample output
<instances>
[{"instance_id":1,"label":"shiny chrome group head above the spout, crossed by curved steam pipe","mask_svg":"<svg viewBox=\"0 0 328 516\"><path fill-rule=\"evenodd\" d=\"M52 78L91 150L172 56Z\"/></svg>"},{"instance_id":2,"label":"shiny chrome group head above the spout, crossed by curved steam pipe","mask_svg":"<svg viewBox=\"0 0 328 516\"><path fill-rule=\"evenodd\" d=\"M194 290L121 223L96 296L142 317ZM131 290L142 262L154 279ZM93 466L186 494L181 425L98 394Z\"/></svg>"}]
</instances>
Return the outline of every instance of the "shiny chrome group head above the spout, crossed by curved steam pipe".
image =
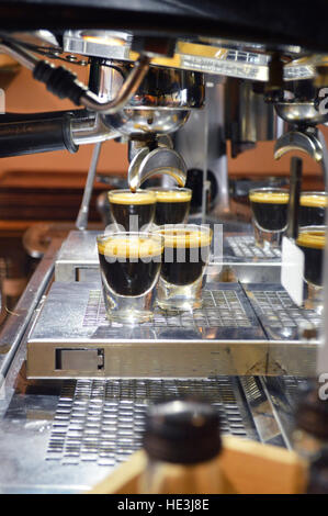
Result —
<instances>
[{"instance_id":1,"label":"shiny chrome group head above the spout, crossed by curved steam pipe","mask_svg":"<svg viewBox=\"0 0 328 516\"><path fill-rule=\"evenodd\" d=\"M106 99L117 97L128 74L131 64L109 61L102 66L102 96ZM102 121L124 136L166 135L179 130L186 122L190 110L202 108L203 102L202 74L151 66L133 98L122 110L102 115Z\"/></svg>"}]
</instances>

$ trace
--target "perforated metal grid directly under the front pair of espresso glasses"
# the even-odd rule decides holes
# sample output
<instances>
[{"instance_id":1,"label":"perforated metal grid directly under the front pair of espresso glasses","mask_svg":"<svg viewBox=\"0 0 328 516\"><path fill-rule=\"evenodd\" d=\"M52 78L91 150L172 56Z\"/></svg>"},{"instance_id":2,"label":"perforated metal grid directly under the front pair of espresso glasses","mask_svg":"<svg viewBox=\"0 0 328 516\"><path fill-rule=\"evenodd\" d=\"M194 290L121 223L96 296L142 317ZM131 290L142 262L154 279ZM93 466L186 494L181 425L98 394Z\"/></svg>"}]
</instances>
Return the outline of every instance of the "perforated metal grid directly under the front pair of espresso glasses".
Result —
<instances>
[{"instance_id":1,"label":"perforated metal grid directly under the front pair of espresso glasses","mask_svg":"<svg viewBox=\"0 0 328 516\"><path fill-rule=\"evenodd\" d=\"M229 327L249 328L251 321L245 312L238 293L233 290L204 290L202 309L190 312L177 312L169 314L166 311L155 309L154 319L144 323L144 326L152 327ZM105 307L100 290L90 290L89 301L83 317L83 326L113 326L122 327L123 324L110 322L106 318Z\"/></svg>"}]
</instances>

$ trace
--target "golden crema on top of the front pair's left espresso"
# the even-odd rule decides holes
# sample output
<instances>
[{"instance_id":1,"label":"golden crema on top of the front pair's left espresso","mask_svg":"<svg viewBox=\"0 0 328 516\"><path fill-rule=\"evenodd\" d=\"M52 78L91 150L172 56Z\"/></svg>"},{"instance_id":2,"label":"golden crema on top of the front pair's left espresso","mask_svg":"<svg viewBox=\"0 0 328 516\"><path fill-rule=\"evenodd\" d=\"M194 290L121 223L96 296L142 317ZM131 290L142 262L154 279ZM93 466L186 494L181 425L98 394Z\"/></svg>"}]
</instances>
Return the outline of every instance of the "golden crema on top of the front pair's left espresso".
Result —
<instances>
[{"instance_id":1,"label":"golden crema on top of the front pair's left espresso","mask_svg":"<svg viewBox=\"0 0 328 516\"><path fill-rule=\"evenodd\" d=\"M99 242L98 250L101 255L115 258L149 258L161 255L163 246L156 238L122 236Z\"/></svg>"}]
</instances>

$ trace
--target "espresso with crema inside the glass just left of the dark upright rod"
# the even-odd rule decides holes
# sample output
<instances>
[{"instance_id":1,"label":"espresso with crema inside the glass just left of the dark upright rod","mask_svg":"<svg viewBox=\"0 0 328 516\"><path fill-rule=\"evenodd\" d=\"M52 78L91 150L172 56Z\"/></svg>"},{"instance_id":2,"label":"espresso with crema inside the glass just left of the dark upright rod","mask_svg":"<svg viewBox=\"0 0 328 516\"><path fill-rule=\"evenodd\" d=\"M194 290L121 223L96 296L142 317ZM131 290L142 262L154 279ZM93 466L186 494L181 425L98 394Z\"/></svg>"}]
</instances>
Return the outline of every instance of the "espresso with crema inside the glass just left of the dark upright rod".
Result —
<instances>
[{"instance_id":1,"label":"espresso with crema inside the glass just left of the dark upright rod","mask_svg":"<svg viewBox=\"0 0 328 516\"><path fill-rule=\"evenodd\" d=\"M264 231L283 231L287 225L289 192L253 191L249 194L256 224Z\"/></svg>"}]
</instances>

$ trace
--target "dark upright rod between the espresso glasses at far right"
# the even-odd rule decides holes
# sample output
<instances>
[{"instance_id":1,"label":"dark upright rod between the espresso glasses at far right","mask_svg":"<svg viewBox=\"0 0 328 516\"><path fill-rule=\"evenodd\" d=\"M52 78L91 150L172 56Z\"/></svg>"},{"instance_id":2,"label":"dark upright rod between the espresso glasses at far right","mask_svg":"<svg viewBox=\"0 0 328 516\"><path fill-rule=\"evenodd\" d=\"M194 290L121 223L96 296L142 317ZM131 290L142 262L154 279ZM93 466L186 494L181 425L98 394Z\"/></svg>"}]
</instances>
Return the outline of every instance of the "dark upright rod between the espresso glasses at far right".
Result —
<instances>
[{"instance_id":1,"label":"dark upright rod between the espresso glasses at far right","mask_svg":"<svg viewBox=\"0 0 328 516\"><path fill-rule=\"evenodd\" d=\"M291 159L291 182L290 182L290 204L286 235L289 238L296 240L298 236L298 213L299 197L302 186L303 161L301 158L293 157Z\"/></svg>"}]
</instances>

